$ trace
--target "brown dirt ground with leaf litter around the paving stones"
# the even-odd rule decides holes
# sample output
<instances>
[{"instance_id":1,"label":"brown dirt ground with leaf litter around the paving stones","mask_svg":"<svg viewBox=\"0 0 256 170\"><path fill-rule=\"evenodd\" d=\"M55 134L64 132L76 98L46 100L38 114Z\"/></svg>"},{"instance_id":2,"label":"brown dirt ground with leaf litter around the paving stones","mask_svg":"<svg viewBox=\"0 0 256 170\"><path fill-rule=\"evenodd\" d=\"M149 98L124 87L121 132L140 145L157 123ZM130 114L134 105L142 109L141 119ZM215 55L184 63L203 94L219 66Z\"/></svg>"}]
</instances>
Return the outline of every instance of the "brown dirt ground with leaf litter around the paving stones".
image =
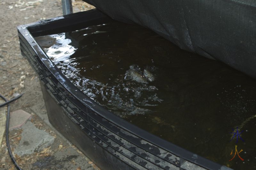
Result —
<instances>
[{"instance_id":1,"label":"brown dirt ground with leaf litter around the paving stones","mask_svg":"<svg viewBox=\"0 0 256 170\"><path fill-rule=\"evenodd\" d=\"M85 11L93 8L81 1L73 1L74 12ZM61 0L1 0L0 1L0 94L11 99L17 94L24 95L11 104L11 111L22 109L28 113L46 113L43 95L39 79L29 65L28 61L20 54L17 26L33 23L41 19L48 19L62 15ZM56 137L44 121L34 115L35 126L43 128ZM20 130L10 133L10 142L13 147L20 140ZM4 137L5 138L5 137ZM61 139L59 139L61 141ZM0 169L14 169L7 154L5 139L0 148ZM16 158L23 169L31 169L32 164L38 160L51 155L51 152L67 147L66 145L53 146L43 153L35 153L30 157ZM88 160L89 161L89 160ZM92 164L92 162L90 162ZM92 164L93 165L93 164ZM40 169L40 168L39 168ZM79 167L77 167L79 169ZM80 168L81 169L81 168Z\"/></svg>"}]
</instances>

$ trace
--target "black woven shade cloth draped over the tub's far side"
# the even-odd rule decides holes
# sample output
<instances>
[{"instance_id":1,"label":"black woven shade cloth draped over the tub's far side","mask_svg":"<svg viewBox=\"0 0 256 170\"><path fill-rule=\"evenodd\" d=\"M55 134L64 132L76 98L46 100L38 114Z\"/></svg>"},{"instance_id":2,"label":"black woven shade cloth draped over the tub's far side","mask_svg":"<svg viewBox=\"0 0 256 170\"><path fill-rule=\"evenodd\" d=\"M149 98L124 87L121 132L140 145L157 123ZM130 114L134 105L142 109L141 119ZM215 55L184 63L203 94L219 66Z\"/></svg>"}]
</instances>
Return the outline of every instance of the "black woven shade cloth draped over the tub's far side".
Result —
<instances>
[{"instance_id":1,"label":"black woven shade cloth draped over the tub's far side","mask_svg":"<svg viewBox=\"0 0 256 170\"><path fill-rule=\"evenodd\" d=\"M84 0L256 78L255 0ZM203 70L202 70L203 71Z\"/></svg>"}]
</instances>

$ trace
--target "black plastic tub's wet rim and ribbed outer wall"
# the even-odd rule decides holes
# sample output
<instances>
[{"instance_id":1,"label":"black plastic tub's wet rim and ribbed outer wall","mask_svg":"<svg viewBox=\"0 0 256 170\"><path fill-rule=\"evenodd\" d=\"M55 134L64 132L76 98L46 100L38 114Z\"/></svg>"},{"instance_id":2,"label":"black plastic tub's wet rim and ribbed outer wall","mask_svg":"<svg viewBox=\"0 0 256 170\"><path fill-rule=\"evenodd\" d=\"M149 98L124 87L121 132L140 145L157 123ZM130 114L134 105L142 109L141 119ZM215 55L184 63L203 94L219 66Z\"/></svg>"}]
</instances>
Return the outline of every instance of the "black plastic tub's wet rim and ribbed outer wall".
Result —
<instances>
[{"instance_id":1,"label":"black plastic tub's wet rim and ribbed outer wall","mask_svg":"<svg viewBox=\"0 0 256 170\"><path fill-rule=\"evenodd\" d=\"M93 102L61 73L34 39L109 19L90 10L18 27L21 53L39 75L52 125L102 169L228 169L156 137Z\"/></svg>"}]
</instances>

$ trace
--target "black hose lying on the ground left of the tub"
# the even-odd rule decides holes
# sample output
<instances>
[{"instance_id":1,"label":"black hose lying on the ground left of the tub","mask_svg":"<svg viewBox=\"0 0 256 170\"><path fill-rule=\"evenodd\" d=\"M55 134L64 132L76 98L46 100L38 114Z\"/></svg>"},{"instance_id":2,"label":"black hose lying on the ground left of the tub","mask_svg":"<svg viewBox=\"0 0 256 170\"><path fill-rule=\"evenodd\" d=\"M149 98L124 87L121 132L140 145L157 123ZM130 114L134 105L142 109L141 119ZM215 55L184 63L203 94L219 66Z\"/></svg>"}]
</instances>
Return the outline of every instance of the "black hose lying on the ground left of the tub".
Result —
<instances>
[{"instance_id":1,"label":"black hose lying on the ground left of the tub","mask_svg":"<svg viewBox=\"0 0 256 170\"><path fill-rule=\"evenodd\" d=\"M12 162L14 164L14 166L18 169L18 170L21 170L20 166L18 165L18 163L16 162L15 158L13 157L12 155L12 150L11 150L11 146L10 146L10 143L9 143L9 120L10 120L10 103L17 100L18 98L20 98L23 94L17 96L17 97L14 97L13 99L11 100L7 100L4 96L2 96L0 94L0 97L2 99L4 99L5 103L3 104L0 104L0 107L4 106L4 105L8 105L7 107L7 119L6 119L6 130L5 130L5 137L6 137L6 145L7 145L7 149L8 149L8 152L9 152L9 156L10 158L12 159Z\"/></svg>"}]
</instances>

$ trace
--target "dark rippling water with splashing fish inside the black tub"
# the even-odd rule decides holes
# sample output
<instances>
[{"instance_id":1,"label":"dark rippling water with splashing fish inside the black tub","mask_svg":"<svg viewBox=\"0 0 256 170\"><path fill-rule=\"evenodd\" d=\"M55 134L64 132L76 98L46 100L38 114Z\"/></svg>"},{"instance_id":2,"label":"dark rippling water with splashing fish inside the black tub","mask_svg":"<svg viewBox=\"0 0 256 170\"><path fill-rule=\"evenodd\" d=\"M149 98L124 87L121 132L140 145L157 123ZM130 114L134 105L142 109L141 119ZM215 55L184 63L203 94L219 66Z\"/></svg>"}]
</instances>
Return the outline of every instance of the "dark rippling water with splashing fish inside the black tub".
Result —
<instances>
[{"instance_id":1,"label":"dark rippling water with splashing fish inside the black tub","mask_svg":"<svg viewBox=\"0 0 256 170\"><path fill-rule=\"evenodd\" d=\"M113 22L51 37L47 55L109 111L221 165L256 168L256 80L140 26ZM229 142L236 127L245 142ZM244 161L228 161L236 145Z\"/></svg>"}]
</instances>

